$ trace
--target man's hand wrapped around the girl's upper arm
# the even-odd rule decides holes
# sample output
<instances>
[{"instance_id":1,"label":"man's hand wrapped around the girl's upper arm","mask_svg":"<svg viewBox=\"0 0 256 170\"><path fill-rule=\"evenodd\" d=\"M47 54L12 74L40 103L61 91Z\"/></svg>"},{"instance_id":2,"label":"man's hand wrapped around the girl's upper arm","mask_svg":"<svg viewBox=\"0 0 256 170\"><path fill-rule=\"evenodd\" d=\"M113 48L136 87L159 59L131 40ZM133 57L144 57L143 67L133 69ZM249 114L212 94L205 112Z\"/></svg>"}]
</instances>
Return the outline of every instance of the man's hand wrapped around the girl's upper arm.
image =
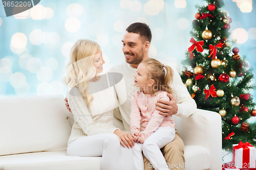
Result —
<instances>
[{"instance_id":1,"label":"man's hand wrapped around the girl's upper arm","mask_svg":"<svg viewBox=\"0 0 256 170\"><path fill-rule=\"evenodd\" d=\"M156 103L156 109L159 111L159 114L162 116L171 116L176 114L178 111L178 105L175 102L174 96L167 93L170 101L158 100Z\"/></svg>"}]
</instances>

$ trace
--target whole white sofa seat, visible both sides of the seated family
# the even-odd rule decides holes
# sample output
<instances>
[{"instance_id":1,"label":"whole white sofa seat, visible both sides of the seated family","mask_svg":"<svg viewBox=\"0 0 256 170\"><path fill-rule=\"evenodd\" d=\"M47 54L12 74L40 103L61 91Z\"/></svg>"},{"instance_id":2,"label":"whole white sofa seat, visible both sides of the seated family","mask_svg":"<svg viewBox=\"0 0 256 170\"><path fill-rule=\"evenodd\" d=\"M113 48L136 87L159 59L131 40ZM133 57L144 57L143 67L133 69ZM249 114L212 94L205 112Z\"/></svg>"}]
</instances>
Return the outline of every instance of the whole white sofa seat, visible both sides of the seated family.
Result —
<instances>
[{"instance_id":1,"label":"whole white sofa seat, visible both sides of the seated family","mask_svg":"<svg viewBox=\"0 0 256 170\"><path fill-rule=\"evenodd\" d=\"M204 147L187 145L184 149L186 168L207 167L210 164L209 152ZM67 156L66 151L34 152L5 155L0 157L1 169L5 170L100 170L101 157Z\"/></svg>"}]
</instances>

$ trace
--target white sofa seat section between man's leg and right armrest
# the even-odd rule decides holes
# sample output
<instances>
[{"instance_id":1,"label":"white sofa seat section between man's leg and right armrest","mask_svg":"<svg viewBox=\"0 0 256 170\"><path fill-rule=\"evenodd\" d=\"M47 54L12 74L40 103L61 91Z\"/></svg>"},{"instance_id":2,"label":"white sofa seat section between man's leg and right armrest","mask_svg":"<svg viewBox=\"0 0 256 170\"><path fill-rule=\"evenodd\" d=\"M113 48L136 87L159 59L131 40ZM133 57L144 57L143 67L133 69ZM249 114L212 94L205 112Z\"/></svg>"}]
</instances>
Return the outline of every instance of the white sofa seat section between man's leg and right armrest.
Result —
<instances>
[{"instance_id":1,"label":"white sofa seat section between man's leg and right armrest","mask_svg":"<svg viewBox=\"0 0 256 170\"><path fill-rule=\"evenodd\" d=\"M185 145L185 170L202 170L210 168L209 151L198 145Z\"/></svg>"}]
</instances>

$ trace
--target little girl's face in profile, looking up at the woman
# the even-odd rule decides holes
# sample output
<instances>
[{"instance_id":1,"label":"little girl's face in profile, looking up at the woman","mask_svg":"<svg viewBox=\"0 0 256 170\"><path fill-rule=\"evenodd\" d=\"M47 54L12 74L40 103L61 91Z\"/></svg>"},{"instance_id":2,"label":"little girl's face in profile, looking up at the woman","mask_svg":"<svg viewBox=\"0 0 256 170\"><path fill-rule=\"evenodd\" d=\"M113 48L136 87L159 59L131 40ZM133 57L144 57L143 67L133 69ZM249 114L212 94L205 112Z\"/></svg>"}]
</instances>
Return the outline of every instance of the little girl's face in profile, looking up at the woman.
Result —
<instances>
[{"instance_id":1,"label":"little girl's face in profile, looking up at the woman","mask_svg":"<svg viewBox=\"0 0 256 170\"><path fill-rule=\"evenodd\" d=\"M137 68L137 73L136 75L134 75L134 86L147 89L147 86L150 85L150 79L148 79L147 75L147 67L144 64L140 63Z\"/></svg>"}]
</instances>

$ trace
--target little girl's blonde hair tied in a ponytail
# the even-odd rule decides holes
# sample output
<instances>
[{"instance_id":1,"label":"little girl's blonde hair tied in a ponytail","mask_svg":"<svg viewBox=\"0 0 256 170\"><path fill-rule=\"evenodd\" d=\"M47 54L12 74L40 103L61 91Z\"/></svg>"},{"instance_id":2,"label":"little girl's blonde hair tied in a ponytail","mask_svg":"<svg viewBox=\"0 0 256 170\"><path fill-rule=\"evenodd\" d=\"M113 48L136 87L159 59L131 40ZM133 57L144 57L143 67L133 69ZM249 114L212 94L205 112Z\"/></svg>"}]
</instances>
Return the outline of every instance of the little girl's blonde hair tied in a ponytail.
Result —
<instances>
[{"instance_id":1,"label":"little girl's blonde hair tied in a ponytail","mask_svg":"<svg viewBox=\"0 0 256 170\"><path fill-rule=\"evenodd\" d=\"M152 95L156 95L156 92L159 90L173 94L173 89L170 87L173 83L174 76L174 70L172 68L163 65L153 58L144 59L141 63L147 67L148 79L154 80L154 84L151 86ZM140 91L143 91L143 88L140 88Z\"/></svg>"}]
</instances>

